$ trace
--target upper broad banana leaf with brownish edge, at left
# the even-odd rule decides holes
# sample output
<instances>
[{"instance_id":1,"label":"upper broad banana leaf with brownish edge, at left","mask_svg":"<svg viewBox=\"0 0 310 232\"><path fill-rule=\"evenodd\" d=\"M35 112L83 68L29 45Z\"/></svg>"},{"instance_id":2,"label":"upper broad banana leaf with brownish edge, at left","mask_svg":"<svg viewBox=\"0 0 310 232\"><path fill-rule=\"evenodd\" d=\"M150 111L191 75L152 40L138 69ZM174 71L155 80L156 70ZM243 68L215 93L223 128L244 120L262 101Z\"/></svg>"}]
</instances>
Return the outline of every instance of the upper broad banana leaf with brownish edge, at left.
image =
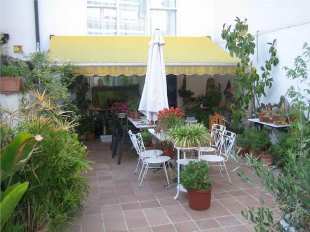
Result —
<instances>
[{"instance_id":1,"label":"upper broad banana leaf with brownish edge, at left","mask_svg":"<svg viewBox=\"0 0 310 232\"><path fill-rule=\"evenodd\" d=\"M19 133L6 147L1 151L0 157L0 182L13 176L30 159L35 145L43 138L33 136L28 133ZM10 183L8 184L8 186Z\"/></svg>"}]
</instances>

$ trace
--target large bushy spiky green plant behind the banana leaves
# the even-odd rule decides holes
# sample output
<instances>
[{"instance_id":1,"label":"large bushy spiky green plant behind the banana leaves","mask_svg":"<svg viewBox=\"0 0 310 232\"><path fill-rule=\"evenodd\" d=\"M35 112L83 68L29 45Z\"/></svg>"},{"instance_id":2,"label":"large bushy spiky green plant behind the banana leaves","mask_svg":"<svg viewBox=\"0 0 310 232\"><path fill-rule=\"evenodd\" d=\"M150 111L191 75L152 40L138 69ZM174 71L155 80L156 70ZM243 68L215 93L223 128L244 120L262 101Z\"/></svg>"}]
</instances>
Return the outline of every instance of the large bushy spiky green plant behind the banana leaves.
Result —
<instances>
[{"instance_id":1,"label":"large bushy spiky green plant behind the banana leaves","mask_svg":"<svg viewBox=\"0 0 310 232\"><path fill-rule=\"evenodd\" d=\"M14 231L18 223L20 231L62 231L74 212L81 209L89 191L88 180L81 173L91 167L84 160L86 147L77 139L74 122L45 92L33 95L35 100L21 109L23 121L16 130L41 134L44 140L23 170L13 177L13 183L28 181L29 188L4 232Z\"/></svg>"}]
</instances>

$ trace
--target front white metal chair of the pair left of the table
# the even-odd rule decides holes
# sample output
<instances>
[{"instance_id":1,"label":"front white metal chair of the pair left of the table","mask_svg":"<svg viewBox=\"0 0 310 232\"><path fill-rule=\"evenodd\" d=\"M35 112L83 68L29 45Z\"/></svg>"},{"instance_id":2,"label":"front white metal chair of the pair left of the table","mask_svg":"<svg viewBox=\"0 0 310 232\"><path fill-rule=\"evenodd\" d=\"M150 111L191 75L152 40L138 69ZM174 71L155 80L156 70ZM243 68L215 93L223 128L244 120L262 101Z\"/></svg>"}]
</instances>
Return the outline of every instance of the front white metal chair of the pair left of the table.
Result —
<instances>
[{"instance_id":1,"label":"front white metal chair of the pair left of the table","mask_svg":"<svg viewBox=\"0 0 310 232\"><path fill-rule=\"evenodd\" d=\"M140 175L138 178L138 181L140 180L139 187L141 187L143 180L145 180L147 171L149 169L159 169L159 168L164 169L165 175L167 178L167 184L169 185L166 162L168 162L171 158L169 156L161 155L163 153L163 151L161 150L145 151L141 133L136 134L136 142L137 142L138 154L140 154L141 161L142 161L142 167L141 167ZM160 151L161 153L158 153L157 151ZM153 156L150 156L150 154L153 154ZM159 165L153 166L153 164L155 165L159 164ZM144 172L142 174L142 177L140 178L143 169L144 169ZM171 179L173 179L170 166L169 166L169 172L170 172Z\"/></svg>"}]
</instances>

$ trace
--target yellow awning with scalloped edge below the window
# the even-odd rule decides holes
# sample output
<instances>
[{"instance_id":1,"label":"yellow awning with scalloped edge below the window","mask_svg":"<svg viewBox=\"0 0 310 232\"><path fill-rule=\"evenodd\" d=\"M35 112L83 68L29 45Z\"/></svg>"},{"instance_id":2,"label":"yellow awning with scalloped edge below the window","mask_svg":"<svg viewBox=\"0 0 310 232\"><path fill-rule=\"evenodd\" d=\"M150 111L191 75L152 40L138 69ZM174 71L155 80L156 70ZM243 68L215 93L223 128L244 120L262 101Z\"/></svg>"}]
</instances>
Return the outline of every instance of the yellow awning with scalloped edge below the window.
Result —
<instances>
[{"instance_id":1,"label":"yellow awning with scalloped edge below the window","mask_svg":"<svg viewBox=\"0 0 310 232\"><path fill-rule=\"evenodd\" d=\"M71 62L85 76L119 76L146 73L150 37L53 36L51 61ZM238 59L207 37L164 37L167 74L235 74Z\"/></svg>"}]
</instances>

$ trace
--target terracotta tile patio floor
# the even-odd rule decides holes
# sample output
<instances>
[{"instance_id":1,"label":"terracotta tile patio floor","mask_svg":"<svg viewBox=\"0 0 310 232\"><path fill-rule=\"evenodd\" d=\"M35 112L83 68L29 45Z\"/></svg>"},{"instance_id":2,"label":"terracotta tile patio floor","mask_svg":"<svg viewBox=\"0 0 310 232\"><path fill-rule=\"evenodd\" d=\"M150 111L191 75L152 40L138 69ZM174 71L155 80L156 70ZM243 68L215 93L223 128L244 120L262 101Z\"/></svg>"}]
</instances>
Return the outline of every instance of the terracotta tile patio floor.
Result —
<instances>
[{"instance_id":1,"label":"terracotta tile patio floor","mask_svg":"<svg viewBox=\"0 0 310 232\"><path fill-rule=\"evenodd\" d=\"M169 190L164 188L167 183L163 170L149 172L138 188L134 175L137 160L129 145L124 147L121 165L117 165L117 157L112 159L109 143L94 141L85 145L94 170L84 174L90 181L90 194L82 212L69 226L73 232L248 232L254 231L253 226L243 219L241 210L259 206L261 196L272 204L269 195L244 183L236 173L231 173L230 185L225 176L221 178L218 168L212 168L211 207L195 211L188 207L186 193L181 192L178 200L173 200L176 184ZM228 161L227 167L233 170L236 164ZM255 176L253 179L257 181Z\"/></svg>"}]
</instances>

